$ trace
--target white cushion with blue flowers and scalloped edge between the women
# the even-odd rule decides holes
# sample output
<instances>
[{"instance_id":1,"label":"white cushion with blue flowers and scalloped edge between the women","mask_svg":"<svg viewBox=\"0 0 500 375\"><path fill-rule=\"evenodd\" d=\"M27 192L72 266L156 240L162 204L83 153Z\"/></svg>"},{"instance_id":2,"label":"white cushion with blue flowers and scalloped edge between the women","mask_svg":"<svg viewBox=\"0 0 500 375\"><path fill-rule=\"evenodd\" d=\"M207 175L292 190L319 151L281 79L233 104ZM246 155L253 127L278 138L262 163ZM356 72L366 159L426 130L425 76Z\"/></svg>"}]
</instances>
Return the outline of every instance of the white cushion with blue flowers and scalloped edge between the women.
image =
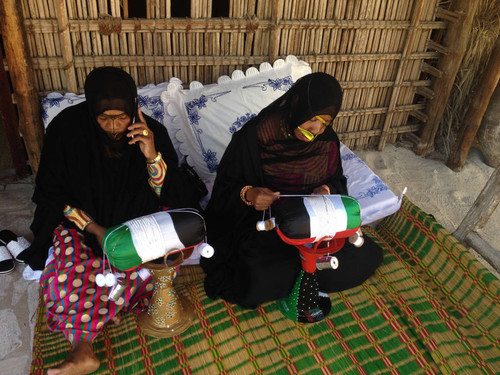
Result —
<instances>
[{"instance_id":1,"label":"white cushion with blue flowers and scalloped edge between the women","mask_svg":"<svg viewBox=\"0 0 500 375\"><path fill-rule=\"evenodd\" d=\"M295 56L279 59L271 66L236 70L217 84L191 82L189 90L177 83L161 95L187 157L201 179L212 182L231 136L262 108L280 97L300 77L311 73L309 64Z\"/></svg>"}]
</instances>

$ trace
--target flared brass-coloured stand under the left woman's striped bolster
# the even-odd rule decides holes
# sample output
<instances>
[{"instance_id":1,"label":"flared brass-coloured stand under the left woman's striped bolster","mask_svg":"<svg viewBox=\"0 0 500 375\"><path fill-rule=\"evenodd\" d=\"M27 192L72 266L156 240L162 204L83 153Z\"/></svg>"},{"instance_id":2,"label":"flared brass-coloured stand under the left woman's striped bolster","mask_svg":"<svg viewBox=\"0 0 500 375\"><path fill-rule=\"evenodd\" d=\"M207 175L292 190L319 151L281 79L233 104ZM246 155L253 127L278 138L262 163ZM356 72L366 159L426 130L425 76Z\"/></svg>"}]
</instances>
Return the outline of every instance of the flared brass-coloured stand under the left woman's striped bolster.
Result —
<instances>
[{"instance_id":1,"label":"flared brass-coloured stand under the left woman's striped bolster","mask_svg":"<svg viewBox=\"0 0 500 375\"><path fill-rule=\"evenodd\" d=\"M194 319L194 308L187 297L178 294L172 286L177 267L184 262L184 252L167 264L167 256L177 251L171 250L163 263L147 262L142 266L151 272L156 285L147 311L141 313L137 323L147 335L154 337L172 337L187 330ZM192 249L188 250L189 257Z\"/></svg>"}]
</instances>

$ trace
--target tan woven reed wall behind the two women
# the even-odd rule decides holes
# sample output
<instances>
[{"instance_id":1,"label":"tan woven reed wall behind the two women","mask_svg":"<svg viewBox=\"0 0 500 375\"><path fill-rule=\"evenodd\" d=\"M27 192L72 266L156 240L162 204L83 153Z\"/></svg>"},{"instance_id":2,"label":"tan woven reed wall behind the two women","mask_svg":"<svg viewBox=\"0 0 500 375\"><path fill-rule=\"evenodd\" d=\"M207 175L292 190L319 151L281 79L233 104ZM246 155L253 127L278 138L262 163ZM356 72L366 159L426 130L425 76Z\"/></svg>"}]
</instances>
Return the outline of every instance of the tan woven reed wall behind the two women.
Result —
<instances>
[{"instance_id":1,"label":"tan woven reed wall behind the two women","mask_svg":"<svg viewBox=\"0 0 500 375\"><path fill-rule=\"evenodd\" d=\"M187 0L183 0L187 1ZM438 0L191 0L190 17L172 17L174 0L21 0L39 95L81 92L88 72L114 65L139 86L178 77L213 83L235 69L296 55L345 89L337 131L350 148L393 143L419 129L445 30Z\"/></svg>"}]
</instances>

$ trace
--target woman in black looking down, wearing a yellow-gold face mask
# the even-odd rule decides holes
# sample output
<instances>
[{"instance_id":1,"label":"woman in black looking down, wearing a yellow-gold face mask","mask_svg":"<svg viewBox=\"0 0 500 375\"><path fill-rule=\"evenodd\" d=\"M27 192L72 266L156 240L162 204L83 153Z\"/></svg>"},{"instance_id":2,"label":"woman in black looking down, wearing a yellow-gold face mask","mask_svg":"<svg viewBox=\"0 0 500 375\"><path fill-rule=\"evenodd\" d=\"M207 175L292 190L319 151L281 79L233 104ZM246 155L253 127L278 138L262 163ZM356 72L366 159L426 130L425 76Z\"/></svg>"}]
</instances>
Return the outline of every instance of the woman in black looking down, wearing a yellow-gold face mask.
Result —
<instances>
[{"instance_id":1,"label":"woman in black looking down, wearing a yellow-gold face mask","mask_svg":"<svg viewBox=\"0 0 500 375\"><path fill-rule=\"evenodd\" d=\"M201 259L205 290L244 308L287 297L301 268L296 247L256 222L280 194L348 194L333 120L342 90L325 73L304 76L233 135L206 209L212 258ZM346 241L339 267L318 271L324 292L363 283L382 251L369 238L356 248Z\"/></svg>"}]
</instances>

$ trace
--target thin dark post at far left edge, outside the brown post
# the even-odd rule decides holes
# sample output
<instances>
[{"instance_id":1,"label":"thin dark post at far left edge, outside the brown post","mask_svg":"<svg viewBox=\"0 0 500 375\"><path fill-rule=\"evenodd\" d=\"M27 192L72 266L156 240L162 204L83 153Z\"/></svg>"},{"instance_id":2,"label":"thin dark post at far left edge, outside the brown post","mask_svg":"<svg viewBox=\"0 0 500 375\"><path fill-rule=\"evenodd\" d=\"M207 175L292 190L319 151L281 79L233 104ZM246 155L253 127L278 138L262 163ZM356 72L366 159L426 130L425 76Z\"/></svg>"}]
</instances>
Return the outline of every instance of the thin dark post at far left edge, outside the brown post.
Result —
<instances>
[{"instance_id":1,"label":"thin dark post at far left edge, outside the brown post","mask_svg":"<svg viewBox=\"0 0 500 375\"><path fill-rule=\"evenodd\" d=\"M3 119L5 136L7 137L16 175L24 177L29 174L29 169L26 163L23 142L19 136L16 107L12 103L9 77L3 66L3 53L0 48L0 115Z\"/></svg>"}]
</instances>

